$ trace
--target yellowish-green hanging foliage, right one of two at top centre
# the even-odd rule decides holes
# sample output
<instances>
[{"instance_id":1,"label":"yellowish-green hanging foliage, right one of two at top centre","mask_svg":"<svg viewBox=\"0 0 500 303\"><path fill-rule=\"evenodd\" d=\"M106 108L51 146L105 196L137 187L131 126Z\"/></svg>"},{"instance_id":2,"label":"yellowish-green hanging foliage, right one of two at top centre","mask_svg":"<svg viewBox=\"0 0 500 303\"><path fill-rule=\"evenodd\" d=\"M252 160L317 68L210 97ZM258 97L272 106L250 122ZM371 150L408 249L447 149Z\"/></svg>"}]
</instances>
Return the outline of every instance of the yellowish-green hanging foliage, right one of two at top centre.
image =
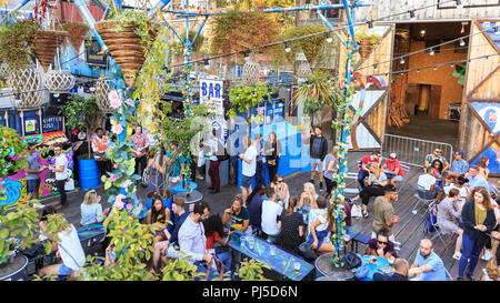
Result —
<instances>
[{"instance_id":1,"label":"yellowish-green hanging foliage, right one of two at top centre","mask_svg":"<svg viewBox=\"0 0 500 303\"><path fill-rule=\"evenodd\" d=\"M304 37L308 34L313 34L328 30L323 26L300 26L291 27L283 34L281 34L277 40L290 40L299 37ZM332 39L337 43L338 39L332 34ZM312 64L323 48L324 41L327 40L326 34L318 34L307 39L300 39L290 42L290 52L284 51L284 44L279 44L273 48L273 61L277 65L283 62L294 62L297 53L301 51L304 53L309 64ZM334 46L334 44L332 44Z\"/></svg>"}]
</instances>

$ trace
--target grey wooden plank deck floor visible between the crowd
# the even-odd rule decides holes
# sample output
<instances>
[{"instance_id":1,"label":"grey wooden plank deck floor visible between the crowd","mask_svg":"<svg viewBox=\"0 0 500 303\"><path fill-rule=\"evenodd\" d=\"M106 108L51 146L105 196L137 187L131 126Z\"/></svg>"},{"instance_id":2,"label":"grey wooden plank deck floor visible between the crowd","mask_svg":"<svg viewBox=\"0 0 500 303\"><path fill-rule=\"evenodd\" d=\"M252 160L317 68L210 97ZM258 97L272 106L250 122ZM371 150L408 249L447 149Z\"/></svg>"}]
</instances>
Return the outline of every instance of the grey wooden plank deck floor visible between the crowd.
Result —
<instances>
[{"instance_id":1,"label":"grey wooden plank deck floor visible between the crowd","mask_svg":"<svg viewBox=\"0 0 500 303\"><path fill-rule=\"evenodd\" d=\"M349 152L348 155L348 164L350 172L358 172L357 162L361 160L367 152ZM402 190L399 194L398 202L394 203L396 214L400 216L400 222L394 225L394 236L396 241L401 243L401 250L399 251L399 256L408 260L411 264L414 261L414 256L418 250L418 245L421 239L424 238L423 226L426 218L423 213L426 208L422 205L419 209L419 214L414 215L411 210L413 210L417 204L417 199L413 198L414 190L411 186L412 182L417 182L417 179L420 174L420 170L417 168L412 168L410 172L406 175L406 181L402 184ZM303 183L308 182L310 179L309 172L297 172L291 175L284 178L286 182L290 188L290 195L300 195L303 191ZM317 179L318 180L318 179ZM212 213L222 213L224 209L229 208L231 204L231 199L234 194L239 193L239 189L236 185L228 185L221 188L221 192L218 194L209 194L207 188L208 184L204 181L198 181L198 190L203 193L203 200L207 201L211 208ZM348 188L356 188L356 180L349 179L347 182ZM491 180L490 180L491 182ZM496 181L494 181L496 182ZM318 181L316 182L318 188ZM109 206L108 196L103 186L97 188L99 194L102 195L102 205L103 208ZM74 191L72 193L68 193L69 205L61 210L62 213L66 214L66 218L71 223L79 223L80 221L80 204L83 202L83 190ZM144 189L138 189L138 196L143 201L146 205L146 191ZM51 196L44 199L42 201L43 204L58 204L59 196ZM362 233L367 235L371 235L371 224L373 222L373 199L371 199L369 204L369 216L368 218L353 218L352 224L358 230L362 231ZM457 277L458 274L458 261L452 259L454 251L454 239L450 241L450 236L444 236L444 241L448 240L448 246L443 248L441 241L437 238L433 240L434 243L434 252L441 256L444 262L446 267L453 276ZM366 245L359 245L359 252L363 253L366 250ZM484 267L486 262L480 260L478 266L476 269L476 276L479 279L481 276L481 271Z\"/></svg>"}]
</instances>

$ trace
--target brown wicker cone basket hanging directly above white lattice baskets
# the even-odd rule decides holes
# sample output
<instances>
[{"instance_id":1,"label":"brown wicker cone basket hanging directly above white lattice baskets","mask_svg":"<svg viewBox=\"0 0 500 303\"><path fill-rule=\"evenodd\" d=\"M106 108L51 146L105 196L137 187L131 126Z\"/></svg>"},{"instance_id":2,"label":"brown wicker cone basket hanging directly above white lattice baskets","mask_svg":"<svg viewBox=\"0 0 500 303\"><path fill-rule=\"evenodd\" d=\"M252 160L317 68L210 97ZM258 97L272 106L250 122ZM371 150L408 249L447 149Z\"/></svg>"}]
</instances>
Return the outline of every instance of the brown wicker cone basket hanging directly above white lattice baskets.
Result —
<instances>
[{"instance_id":1,"label":"brown wicker cone basket hanging directly above white lattice baskets","mask_svg":"<svg viewBox=\"0 0 500 303\"><path fill-rule=\"evenodd\" d=\"M34 39L34 55L43 71L52 63L57 49L64 42L67 32L54 30L39 30Z\"/></svg>"}]
</instances>

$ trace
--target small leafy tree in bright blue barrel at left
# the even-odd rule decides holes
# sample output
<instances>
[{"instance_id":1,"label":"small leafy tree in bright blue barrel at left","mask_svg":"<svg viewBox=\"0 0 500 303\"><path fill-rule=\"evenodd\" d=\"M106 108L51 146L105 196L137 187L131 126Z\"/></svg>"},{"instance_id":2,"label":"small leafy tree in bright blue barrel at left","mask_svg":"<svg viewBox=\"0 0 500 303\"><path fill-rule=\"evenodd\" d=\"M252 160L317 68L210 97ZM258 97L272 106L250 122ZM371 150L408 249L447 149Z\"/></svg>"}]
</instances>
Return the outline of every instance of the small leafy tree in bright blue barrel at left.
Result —
<instances>
[{"instance_id":1,"label":"small leafy tree in bright blue barrel at left","mask_svg":"<svg viewBox=\"0 0 500 303\"><path fill-rule=\"evenodd\" d=\"M93 159L90 135L93 131L101 127L104 122L104 115L99 110L96 103L96 97L83 98L78 94L71 94L69 102L61 107L59 110L59 114L62 114L66 118L66 125L70 130L86 130L87 142L88 142L88 151L89 153L82 154L78 159L79 163L79 176L80 184L82 178L89 179L86 180L89 183L89 186L99 185L100 176L97 170L97 163ZM82 170L82 168L88 168L90 175L87 175L87 170ZM94 169L92 169L94 168ZM94 173L92 173L94 172ZM86 175L83 175L86 174ZM87 184L87 183L86 183ZM83 184L81 184L83 186Z\"/></svg>"}]
</instances>

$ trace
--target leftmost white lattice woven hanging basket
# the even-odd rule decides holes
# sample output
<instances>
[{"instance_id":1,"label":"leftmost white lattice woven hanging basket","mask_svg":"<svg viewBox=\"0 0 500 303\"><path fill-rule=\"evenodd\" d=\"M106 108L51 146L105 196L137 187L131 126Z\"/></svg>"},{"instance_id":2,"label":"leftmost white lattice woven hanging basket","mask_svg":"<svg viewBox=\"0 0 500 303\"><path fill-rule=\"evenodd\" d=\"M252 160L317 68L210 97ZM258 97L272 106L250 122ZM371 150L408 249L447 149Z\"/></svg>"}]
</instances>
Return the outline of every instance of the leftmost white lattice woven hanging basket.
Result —
<instances>
[{"instance_id":1,"label":"leftmost white lattice woven hanging basket","mask_svg":"<svg viewBox=\"0 0 500 303\"><path fill-rule=\"evenodd\" d=\"M43 103L43 82L36 67L12 69L7 83L14 93L11 97L11 103L14 108L37 109ZM21 102L17 100L21 100Z\"/></svg>"}]
</instances>

